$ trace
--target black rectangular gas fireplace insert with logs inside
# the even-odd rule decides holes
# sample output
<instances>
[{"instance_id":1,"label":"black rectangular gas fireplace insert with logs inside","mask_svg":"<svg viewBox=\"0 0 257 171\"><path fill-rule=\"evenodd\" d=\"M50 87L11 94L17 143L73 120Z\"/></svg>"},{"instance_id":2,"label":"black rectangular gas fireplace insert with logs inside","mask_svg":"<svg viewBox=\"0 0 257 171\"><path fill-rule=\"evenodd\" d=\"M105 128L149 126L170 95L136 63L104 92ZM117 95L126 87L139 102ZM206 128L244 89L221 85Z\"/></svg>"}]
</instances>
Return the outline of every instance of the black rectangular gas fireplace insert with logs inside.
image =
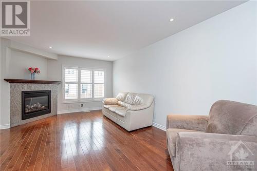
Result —
<instances>
[{"instance_id":1,"label":"black rectangular gas fireplace insert with logs inside","mask_svg":"<svg viewBox=\"0 0 257 171\"><path fill-rule=\"evenodd\" d=\"M22 91L22 120L51 112L51 90Z\"/></svg>"}]
</instances>

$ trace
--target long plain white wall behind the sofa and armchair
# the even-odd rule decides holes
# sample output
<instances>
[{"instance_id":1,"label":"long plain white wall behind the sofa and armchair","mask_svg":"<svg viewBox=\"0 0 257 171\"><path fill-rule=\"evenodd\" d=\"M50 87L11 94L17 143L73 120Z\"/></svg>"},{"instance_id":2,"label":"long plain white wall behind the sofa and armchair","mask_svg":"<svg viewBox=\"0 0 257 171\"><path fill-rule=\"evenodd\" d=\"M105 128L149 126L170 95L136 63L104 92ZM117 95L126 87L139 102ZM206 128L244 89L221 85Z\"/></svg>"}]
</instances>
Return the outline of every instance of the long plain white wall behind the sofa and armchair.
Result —
<instances>
[{"instance_id":1,"label":"long plain white wall behind the sofa and armchair","mask_svg":"<svg viewBox=\"0 0 257 171\"><path fill-rule=\"evenodd\" d=\"M256 105L256 4L244 3L115 61L113 95L154 94L154 122L163 127L169 113L208 115L219 99Z\"/></svg>"}]
</instances>

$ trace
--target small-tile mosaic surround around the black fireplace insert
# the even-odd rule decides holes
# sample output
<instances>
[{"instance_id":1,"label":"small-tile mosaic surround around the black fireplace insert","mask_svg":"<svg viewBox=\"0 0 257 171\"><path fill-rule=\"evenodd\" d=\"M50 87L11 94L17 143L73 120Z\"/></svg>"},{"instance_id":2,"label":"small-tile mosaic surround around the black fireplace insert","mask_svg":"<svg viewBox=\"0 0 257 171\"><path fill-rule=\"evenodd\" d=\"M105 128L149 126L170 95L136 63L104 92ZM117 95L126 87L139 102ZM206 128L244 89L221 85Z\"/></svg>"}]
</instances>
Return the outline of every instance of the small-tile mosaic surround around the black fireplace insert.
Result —
<instances>
[{"instance_id":1,"label":"small-tile mosaic surround around the black fireplace insert","mask_svg":"<svg viewBox=\"0 0 257 171\"><path fill-rule=\"evenodd\" d=\"M6 80L7 81L7 80ZM51 91L51 112L34 118L22 120L22 91ZM39 119L57 115L58 84L11 83L10 82L10 127L22 125Z\"/></svg>"}]
</instances>

